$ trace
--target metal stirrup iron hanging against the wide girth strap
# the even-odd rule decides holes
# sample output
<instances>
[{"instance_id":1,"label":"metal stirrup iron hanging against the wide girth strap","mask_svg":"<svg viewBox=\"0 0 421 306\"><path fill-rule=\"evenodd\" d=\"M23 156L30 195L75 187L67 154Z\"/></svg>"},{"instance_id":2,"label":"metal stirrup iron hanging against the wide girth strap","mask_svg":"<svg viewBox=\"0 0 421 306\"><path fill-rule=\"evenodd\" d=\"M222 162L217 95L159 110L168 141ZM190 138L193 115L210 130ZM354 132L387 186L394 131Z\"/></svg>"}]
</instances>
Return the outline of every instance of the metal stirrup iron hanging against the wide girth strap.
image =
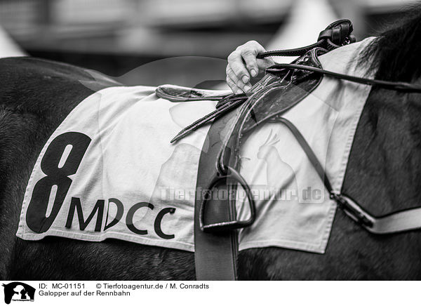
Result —
<instances>
[{"instance_id":1,"label":"metal stirrup iron hanging against the wide girth strap","mask_svg":"<svg viewBox=\"0 0 421 306\"><path fill-rule=\"evenodd\" d=\"M213 180L210 181L208 188L206 189L206 193L209 197L203 198L200 206L199 211L199 225L202 232L221 232L226 230L236 230L243 227L248 227L253 224L255 221L255 203L250 191L250 187L248 186L246 180L237 172L234 168L227 166L227 172L223 175L215 175ZM244 191L247 194L248 204L250 208L250 218L247 220L232 220L226 222L218 222L212 224L205 224L204 222L204 215L205 215L205 208L210 201L210 197L212 196L212 189L218 185L219 182L222 180L232 180L233 183L237 182L243 187Z\"/></svg>"}]
</instances>

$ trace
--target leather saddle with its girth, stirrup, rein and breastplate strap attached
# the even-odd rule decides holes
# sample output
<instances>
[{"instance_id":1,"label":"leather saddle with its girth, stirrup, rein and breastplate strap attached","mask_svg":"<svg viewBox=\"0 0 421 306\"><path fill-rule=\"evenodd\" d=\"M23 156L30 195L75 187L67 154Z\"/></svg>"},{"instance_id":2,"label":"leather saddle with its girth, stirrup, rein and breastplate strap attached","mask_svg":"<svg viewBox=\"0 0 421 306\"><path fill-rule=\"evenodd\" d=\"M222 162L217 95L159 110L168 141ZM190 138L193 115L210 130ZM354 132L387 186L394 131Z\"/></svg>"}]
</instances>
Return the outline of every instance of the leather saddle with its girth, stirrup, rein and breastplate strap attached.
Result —
<instances>
[{"instance_id":1,"label":"leather saddle with its girth, stirrup, rein and breastplate strap attached","mask_svg":"<svg viewBox=\"0 0 421 306\"><path fill-rule=\"evenodd\" d=\"M196 88L159 86L156 95L173 102L218 100L213 112L183 128L171 140L192 133L205 124L211 124L206 147L199 159L194 207L194 244L196 279L236 279L236 258L238 253L238 230L253 224L255 206L250 188L239 173L241 159L239 150L254 128L266 122L284 124L298 140L314 169L324 182L338 208L363 228L373 234L390 234L421 227L421 208L399 211L391 215L374 217L345 194L333 191L326 173L311 147L295 126L282 117L288 109L297 105L319 86L323 75L346 79L361 84L382 86L396 91L421 93L421 86L404 82L381 81L359 78L323 70L318 56L354 42L352 23L338 20L323 30L315 44L283 51L268 51L258 55L298 56L291 64L276 64L266 69L262 77L246 93L218 93ZM248 218L236 218L235 197L219 199L217 193L232 195L237 188L243 188L248 197Z\"/></svg>"}]
</instances>

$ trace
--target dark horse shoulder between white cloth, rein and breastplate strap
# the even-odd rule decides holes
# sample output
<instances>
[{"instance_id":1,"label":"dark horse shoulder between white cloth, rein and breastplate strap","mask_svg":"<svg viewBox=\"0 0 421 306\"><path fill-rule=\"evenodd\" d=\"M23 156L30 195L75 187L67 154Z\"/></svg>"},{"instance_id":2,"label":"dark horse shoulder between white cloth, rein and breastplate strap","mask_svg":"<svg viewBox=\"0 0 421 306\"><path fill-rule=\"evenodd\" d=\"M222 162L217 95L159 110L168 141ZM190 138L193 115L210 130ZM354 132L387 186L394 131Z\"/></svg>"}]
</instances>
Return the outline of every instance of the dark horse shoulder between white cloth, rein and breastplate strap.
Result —
<instances>
[{"instance_id":1,"label":"dark horse shoulder between white cloth, rein and breastplate strap","mask_svg":"<svg viewBox=\"0 0 421 306\"><path fill-rule=\"evenodd\" d=\"M343 189L375 215L421 206L420 119L419 94L370 93Z\"/></svg>"}]
</instances>

